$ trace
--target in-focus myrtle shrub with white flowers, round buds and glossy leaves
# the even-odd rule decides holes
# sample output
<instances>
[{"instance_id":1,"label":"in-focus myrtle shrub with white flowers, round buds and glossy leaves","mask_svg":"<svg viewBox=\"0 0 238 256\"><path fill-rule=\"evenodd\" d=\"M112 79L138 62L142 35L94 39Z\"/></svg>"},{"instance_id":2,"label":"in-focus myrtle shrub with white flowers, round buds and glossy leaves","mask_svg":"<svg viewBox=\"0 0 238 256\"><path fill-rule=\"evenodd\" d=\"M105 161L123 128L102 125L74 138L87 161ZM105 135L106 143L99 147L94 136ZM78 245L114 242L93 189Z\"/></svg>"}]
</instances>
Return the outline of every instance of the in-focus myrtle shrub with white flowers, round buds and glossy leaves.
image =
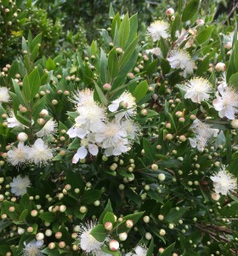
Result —
<instances>
[{"instance_id":1,"label":"in-focus myrtle shrub with white flowers, round buds and glossy leaves","mask_svg":"<svg viewBox=\"0 0 238 256\"><path fill-rule=\"evenodd\" d=\"M68 53L22 38L0 77L0 255L237 254L237 23L215 13L179 0L140 36L111 5Z\"/></svg>"}]
</instances>

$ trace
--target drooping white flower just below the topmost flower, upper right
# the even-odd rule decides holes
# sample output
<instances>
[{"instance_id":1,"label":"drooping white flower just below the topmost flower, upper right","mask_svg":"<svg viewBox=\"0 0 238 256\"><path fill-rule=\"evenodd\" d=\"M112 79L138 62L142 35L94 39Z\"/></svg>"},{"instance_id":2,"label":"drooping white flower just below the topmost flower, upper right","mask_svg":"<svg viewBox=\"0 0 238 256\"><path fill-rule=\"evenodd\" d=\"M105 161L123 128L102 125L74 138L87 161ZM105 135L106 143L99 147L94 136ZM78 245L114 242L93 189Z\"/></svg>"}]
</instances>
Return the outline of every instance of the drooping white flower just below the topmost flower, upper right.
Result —
<instances>
[{"instance_id":1,"label":"drooping white flower just below the topmost flower, upper right","mask_svg":"<svg viewBox=\"0 0 238 256\"><path fill-rule=\"evenodd\" d=\"M181 68L184 71L184 78L186 78L188 74L193 73L193 69L195 68L195 61L182 49L173 50L170 57L167 58L167 61L169 61L172 68Z\"/></svg>"}]
</instances>

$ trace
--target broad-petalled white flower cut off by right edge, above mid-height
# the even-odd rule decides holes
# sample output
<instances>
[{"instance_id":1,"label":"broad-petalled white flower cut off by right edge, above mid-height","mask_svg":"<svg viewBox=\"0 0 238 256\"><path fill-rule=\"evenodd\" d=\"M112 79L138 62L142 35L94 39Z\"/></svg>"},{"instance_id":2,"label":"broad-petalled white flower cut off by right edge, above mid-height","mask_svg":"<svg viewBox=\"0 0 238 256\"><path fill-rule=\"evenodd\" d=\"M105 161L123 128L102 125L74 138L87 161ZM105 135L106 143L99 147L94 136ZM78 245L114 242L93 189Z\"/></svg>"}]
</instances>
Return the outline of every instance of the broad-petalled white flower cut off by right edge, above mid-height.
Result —
<instances>
[{"instance_id":1,"label":"broad-petalled white flower cut off by right edge, above mid-height","mask_svg":"<svg viewBox=\"0 0 238 256\"><path fill-rule=\"evenodd\" d=\"M220 118L235 119L235 113L238 113L238 93L232 87L224 87L221 84L216 92L217 98L212 104L218 111Z\"/></svg>"}]
</instances>

